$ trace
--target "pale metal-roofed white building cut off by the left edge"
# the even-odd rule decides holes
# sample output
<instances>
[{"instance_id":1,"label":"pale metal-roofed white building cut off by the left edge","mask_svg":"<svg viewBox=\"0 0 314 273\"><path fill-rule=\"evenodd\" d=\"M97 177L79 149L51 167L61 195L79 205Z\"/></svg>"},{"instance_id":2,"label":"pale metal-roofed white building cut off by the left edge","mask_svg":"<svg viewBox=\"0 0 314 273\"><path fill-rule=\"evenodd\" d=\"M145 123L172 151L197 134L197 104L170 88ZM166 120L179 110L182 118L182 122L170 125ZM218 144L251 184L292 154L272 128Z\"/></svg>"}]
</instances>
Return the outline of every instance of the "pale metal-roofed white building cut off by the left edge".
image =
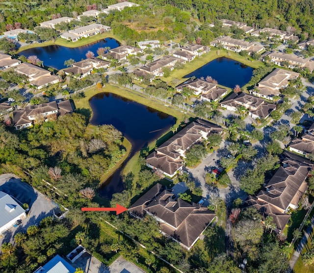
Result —
<instances>
[{"instance_id":1,"label":"pale metal-roofed white building cut off by the left edge","mask_svg":"<svg viewBox=\"0 0 314 273\"><path fill-rule=\"evenodd\" d=\"M25 210L3 191L0 191L0 215L0 235L26 218Z\"/></svg>"}]
</instances>

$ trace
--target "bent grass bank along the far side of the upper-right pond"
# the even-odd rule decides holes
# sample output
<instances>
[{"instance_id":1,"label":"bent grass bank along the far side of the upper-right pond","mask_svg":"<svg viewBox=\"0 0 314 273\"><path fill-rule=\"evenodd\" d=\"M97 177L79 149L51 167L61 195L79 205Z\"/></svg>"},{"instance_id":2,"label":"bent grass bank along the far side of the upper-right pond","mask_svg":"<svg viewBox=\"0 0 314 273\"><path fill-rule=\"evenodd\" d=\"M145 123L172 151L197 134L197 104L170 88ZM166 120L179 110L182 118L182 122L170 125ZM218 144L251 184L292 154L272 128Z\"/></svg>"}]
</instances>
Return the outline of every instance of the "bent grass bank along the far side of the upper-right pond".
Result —
<instances>
[{"instance_id":1,"label":"bent grass bank along the far side of the upper-right pond","mask_svg":"<svg viewBox=\"0 0 314 273\"><path fill-rule=\"evenodd\" d=\"M161 78L163 81L168 82L170 84L171 80L174 78L178 78L179 80L185 81L183 77L194 70L202 67L203 65L207 64L208 62L218 58L218 57L227 57L234 59L236 61L239 61L241 63L244 63L245 65L248 65L253 68L258 68L260 66L264 66L263 62L261 61L250 61L247 58L239 55L238 53L232 52L232 51L226 51L226 50L219 50L219 55L218 55L218 50L214 47L211 48L210 52L207 54L204 54L200 57L196 57L194 60L191 62L186 62L184 65L184 68L181 70L174 70L171 72L170 77L168 78ZM222 86L222 85L221 85Z\"/></svg>"}]
</instances>

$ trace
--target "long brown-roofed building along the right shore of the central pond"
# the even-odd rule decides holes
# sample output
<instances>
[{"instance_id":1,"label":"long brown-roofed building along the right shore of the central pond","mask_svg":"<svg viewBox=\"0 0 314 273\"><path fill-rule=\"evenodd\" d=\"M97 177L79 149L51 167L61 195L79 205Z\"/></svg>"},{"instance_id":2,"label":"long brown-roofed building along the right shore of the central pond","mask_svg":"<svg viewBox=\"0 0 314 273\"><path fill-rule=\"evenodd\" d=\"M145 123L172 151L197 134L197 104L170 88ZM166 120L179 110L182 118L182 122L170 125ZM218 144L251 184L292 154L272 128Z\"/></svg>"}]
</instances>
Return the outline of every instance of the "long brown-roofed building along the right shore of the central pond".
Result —
<instances>
[{"instance_id":1,"label":"long brown-roofed building along the right shore of the central pond","mask_svg":"<svg viewBox=\"0 0 314 273\"><path fill-rule=\"evenodd\" d=\"M182 170L183 158L189 148L197 142L202 142L209 134L221 134L222 131L223 129L215 124L197 119L148 155L146 165L160 170L166 176L174 177Z\"/></svg>"}]
</instances>

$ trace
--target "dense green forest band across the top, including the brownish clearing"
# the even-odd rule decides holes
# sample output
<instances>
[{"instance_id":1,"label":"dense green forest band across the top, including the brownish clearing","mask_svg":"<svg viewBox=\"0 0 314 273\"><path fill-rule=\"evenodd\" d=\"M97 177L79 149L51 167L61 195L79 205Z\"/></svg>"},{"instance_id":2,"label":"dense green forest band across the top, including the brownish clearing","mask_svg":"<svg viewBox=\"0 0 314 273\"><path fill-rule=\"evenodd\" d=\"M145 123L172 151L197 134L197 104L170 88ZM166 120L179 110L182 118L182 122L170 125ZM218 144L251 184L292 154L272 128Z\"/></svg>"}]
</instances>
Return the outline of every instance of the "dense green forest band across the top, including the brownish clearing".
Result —
<instances>
[{"instance_id":1,"label":"dense green forest band across the top, including the brownish clearing","mask_svg":"<svg viewBox=\"0 0 314 273\"><path fill-rule=\"evenodd\" d=\"M59 16L76 17L96 4L103 9L115 1L67 0L6 1L0 3L0 29L18 26L34 29L41 22ZM273 27L295 31L302 38L314 35L314 0L151 0L135 1L138 7L102 14L101 22L113 28L123 40L159 38L169 40L197 37L208 44L219 35L209 23L217 19L246 22L254 27ZM93 8L94 8L93 7Z\"/></svg>"}]
</instances>

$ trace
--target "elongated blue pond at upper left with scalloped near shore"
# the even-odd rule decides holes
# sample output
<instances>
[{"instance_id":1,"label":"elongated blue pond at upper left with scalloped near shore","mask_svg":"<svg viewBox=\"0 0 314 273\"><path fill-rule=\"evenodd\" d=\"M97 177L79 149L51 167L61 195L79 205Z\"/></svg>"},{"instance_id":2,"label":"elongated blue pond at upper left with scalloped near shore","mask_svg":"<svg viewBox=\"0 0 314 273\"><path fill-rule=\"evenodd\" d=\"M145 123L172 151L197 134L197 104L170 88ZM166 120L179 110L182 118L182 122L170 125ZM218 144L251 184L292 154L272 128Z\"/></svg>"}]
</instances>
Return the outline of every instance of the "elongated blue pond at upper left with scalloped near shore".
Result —
<instances>
[{"instance_id":1,"label":"elongated blue pond at upper left with scalloped near shore","mask_svg":"<svg viewBox=\"0 0 314 273\"><path fill-rule=\"evenodd\" d=\"M57 45L31 48L20 52L19 55L24 55L26 57L30 55L36 55L40 60L44 62L44 65L59 70L62 68L66 68L66 66L64 65L65 60L74 59L75 61L80 61L81 59L86 59L85 54L87 53L87 51L92 51L95 56L97 56L96 52L99 48L116 48L118 46L120 45L117 40L113 38L105 38L95 43L77 48L67 48Z\"/></svg>"}]
</instances>

